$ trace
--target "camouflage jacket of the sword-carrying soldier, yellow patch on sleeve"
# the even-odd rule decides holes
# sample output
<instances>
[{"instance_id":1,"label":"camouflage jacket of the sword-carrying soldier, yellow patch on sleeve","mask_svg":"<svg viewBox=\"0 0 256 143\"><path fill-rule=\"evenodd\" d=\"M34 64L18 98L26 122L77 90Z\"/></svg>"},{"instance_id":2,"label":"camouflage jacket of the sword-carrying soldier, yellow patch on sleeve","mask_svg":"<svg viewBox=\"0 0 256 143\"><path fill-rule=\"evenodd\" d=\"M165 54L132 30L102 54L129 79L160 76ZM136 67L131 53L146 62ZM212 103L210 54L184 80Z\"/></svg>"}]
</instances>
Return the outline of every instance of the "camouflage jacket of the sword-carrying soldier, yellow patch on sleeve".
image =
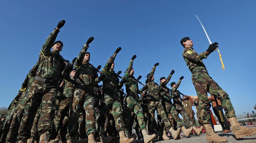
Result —
<instances>
[{"instance_id":1,"label":"camouflage jacket of the sword-carrying soldier, yellow patch on sleeve","mask_svg":"<svg viewBox=\"0 0 256 143\"><path fill-rule=\"evenodd\" d=\"M206 59L208 55L208 51L197 54L192 47L187 47L183 50L183 58L190 71L193 71L197 68L206 70L206 67L202 60Z\"/></svg>"}]
</instances>

